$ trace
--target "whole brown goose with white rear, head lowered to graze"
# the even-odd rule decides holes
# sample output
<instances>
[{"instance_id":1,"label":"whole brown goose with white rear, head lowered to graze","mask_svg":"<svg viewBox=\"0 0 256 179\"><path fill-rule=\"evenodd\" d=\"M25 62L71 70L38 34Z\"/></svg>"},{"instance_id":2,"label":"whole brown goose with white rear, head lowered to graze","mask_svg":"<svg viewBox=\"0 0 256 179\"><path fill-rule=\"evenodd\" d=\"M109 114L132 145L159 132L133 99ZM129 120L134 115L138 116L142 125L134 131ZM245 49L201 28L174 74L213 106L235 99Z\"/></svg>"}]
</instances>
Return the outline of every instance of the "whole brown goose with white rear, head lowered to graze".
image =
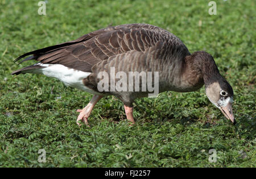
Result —
<instances>
[{"instance_id":1,"label":"whole brown goose with white rear, head lowered to graze","mask_svg":"<svg viewBox=\"0 0 256 179\"><path fill-rule=\"evenodd\" d=\"M38 63L12 74L44 74L94 94L84 109L77 110L79 126L80 120L89 126L93 107L106 95L123 102L127 120L133 125L133 102L150 97L152 86L158 94L195 91L203 85L209 101L236 123L232 86L221 76L213 57L204 51L191 54L174 34L151 24L102 28L73 41L25 53L14 62L26 56L20 63Z\"/></svg>"}]
</instances>

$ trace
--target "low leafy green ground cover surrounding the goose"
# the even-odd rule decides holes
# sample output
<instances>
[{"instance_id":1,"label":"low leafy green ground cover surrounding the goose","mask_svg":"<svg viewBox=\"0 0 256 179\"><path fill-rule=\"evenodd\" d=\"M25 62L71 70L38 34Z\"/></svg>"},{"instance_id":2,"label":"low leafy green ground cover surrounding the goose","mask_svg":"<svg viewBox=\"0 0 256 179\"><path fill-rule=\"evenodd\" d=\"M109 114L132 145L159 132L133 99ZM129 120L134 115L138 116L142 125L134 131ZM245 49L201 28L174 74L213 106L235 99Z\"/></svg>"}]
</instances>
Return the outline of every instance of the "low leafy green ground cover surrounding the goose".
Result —
<instances>
[{"instance_id":1,"label":"low leafy green ground cover surrounding the goose","mask_svg":"<svg viewBox=\"0 0 256 179\"><path fill-rule=\"evenodd\" d=\"M0 166L255 167L255 1L0 0ZM242 2L242 3L241 3ZM234 90L237 124L225 119L204 88L138 99L135 126L122 103L106 97L78 127L76 109L91 94L41 75L11 76L25 52L124 23L150 23L178 36L189 51L210 53ZM46 150L46 163L38 150ZM209 149L217 162L210 163ZM241 154L241 152L243 154ZM246 153L246 155L245 155Z\"/></svg>"}]
</instances>

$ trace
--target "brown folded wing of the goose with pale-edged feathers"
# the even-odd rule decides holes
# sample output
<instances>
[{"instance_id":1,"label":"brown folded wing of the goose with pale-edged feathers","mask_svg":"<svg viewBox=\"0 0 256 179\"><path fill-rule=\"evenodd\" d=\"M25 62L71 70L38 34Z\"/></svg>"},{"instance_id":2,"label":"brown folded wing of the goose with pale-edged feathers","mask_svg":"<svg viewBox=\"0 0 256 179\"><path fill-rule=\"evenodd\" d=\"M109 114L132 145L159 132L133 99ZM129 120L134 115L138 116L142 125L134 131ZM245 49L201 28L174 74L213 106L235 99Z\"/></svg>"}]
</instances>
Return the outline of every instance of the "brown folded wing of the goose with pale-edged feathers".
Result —
<instances>
[{"instance_id":1,"label":"brown folded wing of the goose with pale-edged feathers","mask_svg":"<svg viewBox=\"0 0 256 179\"><path fill-rule=\"evenodd\" d=\"M177 49L179 46L180 50L189 54L179 38L162 28L150 24L123 24L90 32L67 43L25 53L15 61L32 55L25 61L34 59L42 64L61 64L68 68L92 72L92 67L101 61L131 51L146 53L147 49L154 47L159 41L166 41L170 48Z\"/></svg>"}]
</instances>

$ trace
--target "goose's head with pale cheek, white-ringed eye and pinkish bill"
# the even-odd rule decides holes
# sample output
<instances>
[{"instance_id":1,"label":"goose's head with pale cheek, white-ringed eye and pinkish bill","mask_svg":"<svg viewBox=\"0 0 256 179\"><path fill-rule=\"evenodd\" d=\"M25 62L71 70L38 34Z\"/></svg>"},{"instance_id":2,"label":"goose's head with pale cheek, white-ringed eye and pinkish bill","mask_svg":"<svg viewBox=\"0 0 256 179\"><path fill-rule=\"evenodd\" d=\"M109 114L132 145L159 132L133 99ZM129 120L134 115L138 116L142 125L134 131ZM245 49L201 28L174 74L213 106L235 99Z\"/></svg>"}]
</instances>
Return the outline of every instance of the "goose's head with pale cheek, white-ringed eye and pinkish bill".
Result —
<instances>
[{"instance_id":1,"label":"goose's head with pale cheek, white-ringed eye and pinkish bill","mask_svg":"<svg viewBox=\"0 0 256 179\"><path fill-rule=\"evenodd\" d=\"M233 89L229 83L224 79L214 81L212 84L205 86L205 92L210 102L218 107L233 124L236 124L232 111Z\"/></svg>"}]
</instances>

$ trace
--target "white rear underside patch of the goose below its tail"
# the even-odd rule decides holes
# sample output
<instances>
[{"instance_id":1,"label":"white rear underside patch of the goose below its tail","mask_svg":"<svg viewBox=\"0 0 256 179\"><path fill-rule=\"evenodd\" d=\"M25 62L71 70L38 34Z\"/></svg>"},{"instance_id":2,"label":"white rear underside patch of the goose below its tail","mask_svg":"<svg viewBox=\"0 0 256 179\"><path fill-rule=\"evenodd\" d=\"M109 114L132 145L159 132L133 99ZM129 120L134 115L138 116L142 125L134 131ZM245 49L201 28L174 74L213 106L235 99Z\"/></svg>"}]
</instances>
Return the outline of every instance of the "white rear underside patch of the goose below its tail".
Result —
<instances>
[{"instance_id":1,"label":"white rear underside patch of the goose below its tail","mask_svg":"<svg viewBox=\"0 0 256 179\"><path fill-rule=\"evenodd\" d=\"M47 77L57 78L58 80L64 82L64 84L67 86L72 86L73 88L87 91L88 93L97 95L101 94L87 88L82 82L82 79L88 77L91 74L90 72L82 72L80 70L68 68L67 66L60 64L37 63L35 65L45 66L46 68L33 69L31 70L31 73L40 73Z\"/></svg>"}]
</instances>

